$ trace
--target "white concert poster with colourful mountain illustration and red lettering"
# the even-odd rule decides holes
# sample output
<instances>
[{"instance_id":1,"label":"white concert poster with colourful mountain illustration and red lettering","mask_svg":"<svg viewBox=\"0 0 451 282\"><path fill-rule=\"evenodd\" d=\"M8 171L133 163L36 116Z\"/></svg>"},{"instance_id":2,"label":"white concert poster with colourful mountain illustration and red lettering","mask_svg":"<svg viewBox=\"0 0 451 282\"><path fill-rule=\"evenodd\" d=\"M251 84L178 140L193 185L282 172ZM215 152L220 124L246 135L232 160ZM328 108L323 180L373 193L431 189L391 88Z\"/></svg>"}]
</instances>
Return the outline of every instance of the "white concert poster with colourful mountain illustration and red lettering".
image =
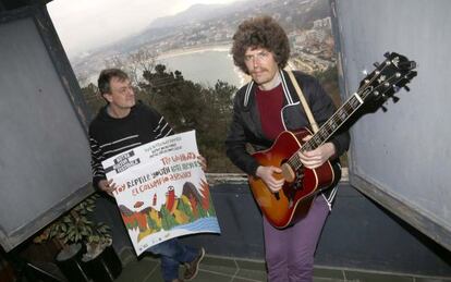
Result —
<instances>
[{"instance_id":1,"label":"white concert poster with colourful mountain illustration and red lettering","mask_svg":"<svg viewBox=\"0 0 451 282\"><path fill-rule=\"evenodd\" d=\"M102 162L137 255L163 241L220 233L197 160L195 132L168 136Z\"/></svg>"}]
</instances>

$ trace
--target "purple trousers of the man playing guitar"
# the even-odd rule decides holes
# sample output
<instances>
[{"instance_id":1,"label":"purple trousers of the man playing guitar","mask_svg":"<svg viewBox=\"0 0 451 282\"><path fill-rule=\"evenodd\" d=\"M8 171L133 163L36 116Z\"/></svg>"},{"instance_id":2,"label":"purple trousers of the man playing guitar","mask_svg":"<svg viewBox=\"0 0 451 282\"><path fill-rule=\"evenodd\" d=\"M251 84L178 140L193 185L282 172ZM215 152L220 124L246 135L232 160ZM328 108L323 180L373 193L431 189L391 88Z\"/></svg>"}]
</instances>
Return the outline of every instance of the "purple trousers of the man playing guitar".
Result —
<instances>
[{"instance_id":1,"label":"purple trousers of the man playing guitar","mask_svg":"<svg viewBox=\"0 0 451 282\"><path fill-rule=\"evenodd\" d=\"M276 229L264 217L269 282L313 281L315 249L328 214L328 204L318 195L307 216L292 226Z\"/></svg>"}]
</instances>

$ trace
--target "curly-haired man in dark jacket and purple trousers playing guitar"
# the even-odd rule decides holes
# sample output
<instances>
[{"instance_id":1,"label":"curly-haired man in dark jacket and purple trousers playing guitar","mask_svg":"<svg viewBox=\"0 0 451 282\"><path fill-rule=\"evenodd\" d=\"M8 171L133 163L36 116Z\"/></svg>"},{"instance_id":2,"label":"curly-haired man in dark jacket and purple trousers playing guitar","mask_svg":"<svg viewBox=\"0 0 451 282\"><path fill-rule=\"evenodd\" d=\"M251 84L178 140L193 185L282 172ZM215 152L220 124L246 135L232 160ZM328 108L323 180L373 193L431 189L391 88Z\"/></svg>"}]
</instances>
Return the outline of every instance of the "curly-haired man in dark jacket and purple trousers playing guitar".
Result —
<instances>
[{"instance_id":1,"label":"curly-haired man in dark jacket and purple trousers playing guitar","mask_svg":"<svg viewBox=\"0 0 451 282\"><path fill-rule=\"evenodd\" d=\"M281 168L260 165L248 152L269 148L283 131L308 127L309 122L298 95L283 70L290 56L285 32L269 16L244 21L233 36L232 56L236 66L252 81L234 97L232 124L226 139L232 162L253 177L259 177L271 192L282 188L284 180L275 177ZM334 112L331 98L310 75L294 72L316 122L320 125ZM307 136L304 140L308 139ZM348 132L332 136L314 150L300 154L304 167L315 169L338 158L349 148ZM264 217L265 257L269 281L312 281L315 249L332 207L337 187L317 194L307 214L296 223L278 229Z\"/></svg>"}]
</instances>

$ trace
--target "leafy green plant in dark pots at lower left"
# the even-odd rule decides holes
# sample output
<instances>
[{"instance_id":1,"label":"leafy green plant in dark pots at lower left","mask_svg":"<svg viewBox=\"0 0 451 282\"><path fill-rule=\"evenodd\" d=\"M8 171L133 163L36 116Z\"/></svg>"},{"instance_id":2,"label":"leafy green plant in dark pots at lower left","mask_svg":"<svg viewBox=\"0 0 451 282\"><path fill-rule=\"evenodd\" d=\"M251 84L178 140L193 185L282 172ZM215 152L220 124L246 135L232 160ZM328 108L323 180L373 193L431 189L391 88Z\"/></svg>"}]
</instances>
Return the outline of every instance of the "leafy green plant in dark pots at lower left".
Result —
<instances>
[{"instance_id":1,"label":"leafy green plant in dark pots at lower left","mask_svg":"<svg viewBox=\"0 0 451 282\"><path fill-rule=\"evenodd\" d=\"M81 201L34 240L57 242L61 250L56 262L70 281L113 281L122 271L109 226L89 219L98 197L93 194Z\"/></svg>"}]
</instances>

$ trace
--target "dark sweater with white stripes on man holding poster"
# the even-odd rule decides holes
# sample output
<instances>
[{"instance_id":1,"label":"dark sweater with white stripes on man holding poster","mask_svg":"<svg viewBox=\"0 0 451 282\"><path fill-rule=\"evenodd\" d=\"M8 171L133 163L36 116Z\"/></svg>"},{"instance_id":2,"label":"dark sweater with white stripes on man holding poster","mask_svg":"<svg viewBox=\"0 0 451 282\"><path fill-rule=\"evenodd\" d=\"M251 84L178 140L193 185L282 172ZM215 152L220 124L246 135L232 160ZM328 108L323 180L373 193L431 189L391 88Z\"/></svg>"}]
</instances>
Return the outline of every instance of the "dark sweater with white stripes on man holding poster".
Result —
<instances>
[{"instance_id":1,"label":"dark sweater with white stripes on man holding poster","mask_svg":"<svg viewBox=\"0 0 451 282\"><path fill-rule=\"evenodd\" d=\"M103 107L89 125L93 185L98 187L99 181L106 179L103 160L171 134L164 118L141 101L123 119L111 118Z\"/></svg>"}]
</instances>

